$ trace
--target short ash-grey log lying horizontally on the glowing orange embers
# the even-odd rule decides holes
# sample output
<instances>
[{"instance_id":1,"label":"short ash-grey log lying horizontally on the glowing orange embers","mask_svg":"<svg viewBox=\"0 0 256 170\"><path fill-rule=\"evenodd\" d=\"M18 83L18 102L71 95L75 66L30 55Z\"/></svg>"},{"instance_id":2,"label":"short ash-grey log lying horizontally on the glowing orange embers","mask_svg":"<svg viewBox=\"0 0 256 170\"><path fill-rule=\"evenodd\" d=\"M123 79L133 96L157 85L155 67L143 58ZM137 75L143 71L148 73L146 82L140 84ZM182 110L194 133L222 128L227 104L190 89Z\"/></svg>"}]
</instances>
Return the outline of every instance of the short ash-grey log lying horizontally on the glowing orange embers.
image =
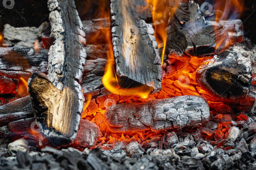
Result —
<instances>
[{"instance_id":1,"label":"short ash-grey log lying horizontally on the glowing orange embers","mask_svg":"<svg viewBox=\"0 0 256 170\"><path fill-rule=\"evenodd\" d=\"M201 125L210 119L210 109L204 97L178 96L112 105L104 115L112 132L158 131Z\"/></svg>"}]
</instances>

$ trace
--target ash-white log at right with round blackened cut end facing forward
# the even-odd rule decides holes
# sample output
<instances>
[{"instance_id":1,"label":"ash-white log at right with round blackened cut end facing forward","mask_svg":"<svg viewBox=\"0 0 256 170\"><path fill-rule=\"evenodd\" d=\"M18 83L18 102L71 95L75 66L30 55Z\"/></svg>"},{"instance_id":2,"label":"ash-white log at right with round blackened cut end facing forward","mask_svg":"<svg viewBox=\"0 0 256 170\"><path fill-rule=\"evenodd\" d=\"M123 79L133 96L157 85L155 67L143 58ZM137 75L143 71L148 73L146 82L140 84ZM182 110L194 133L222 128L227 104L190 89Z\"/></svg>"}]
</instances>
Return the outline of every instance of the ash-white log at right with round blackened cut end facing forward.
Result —
<instances>
[{"instance_id":1,"label":"ash-white log at right with round blackened cut end facing forward","mask_svg":"<svg viewBox=\"0 0 256 170\"><path fill-rule=\"evenodd\" d=\"M244 99L252 80L251 60L233 47L205 61L196 71L198 84L218 99Z\"/></svg>"}]
</instances>

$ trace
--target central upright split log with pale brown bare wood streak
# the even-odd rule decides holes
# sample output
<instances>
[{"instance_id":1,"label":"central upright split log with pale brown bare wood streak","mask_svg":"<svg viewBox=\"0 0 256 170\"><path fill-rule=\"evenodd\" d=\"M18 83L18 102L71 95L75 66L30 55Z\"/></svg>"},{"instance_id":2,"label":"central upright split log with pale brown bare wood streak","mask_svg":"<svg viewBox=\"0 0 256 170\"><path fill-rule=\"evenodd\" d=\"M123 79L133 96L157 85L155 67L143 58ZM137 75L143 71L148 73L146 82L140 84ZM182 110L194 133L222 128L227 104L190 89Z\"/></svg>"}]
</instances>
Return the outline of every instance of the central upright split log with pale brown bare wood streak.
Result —
<instances>
[{"instance_id":1,"label":"central upright split log with pale brown bare wood streak","mask_svg":"<svg viewBox=\"0 0 256 170\"><path fill-rule=\"evenodd\" d=\"M162 88L161 59L144 0L111 1L112 42L116 75L121 88L139 87L156 93Z\"/></svg>"}]
</instances>

